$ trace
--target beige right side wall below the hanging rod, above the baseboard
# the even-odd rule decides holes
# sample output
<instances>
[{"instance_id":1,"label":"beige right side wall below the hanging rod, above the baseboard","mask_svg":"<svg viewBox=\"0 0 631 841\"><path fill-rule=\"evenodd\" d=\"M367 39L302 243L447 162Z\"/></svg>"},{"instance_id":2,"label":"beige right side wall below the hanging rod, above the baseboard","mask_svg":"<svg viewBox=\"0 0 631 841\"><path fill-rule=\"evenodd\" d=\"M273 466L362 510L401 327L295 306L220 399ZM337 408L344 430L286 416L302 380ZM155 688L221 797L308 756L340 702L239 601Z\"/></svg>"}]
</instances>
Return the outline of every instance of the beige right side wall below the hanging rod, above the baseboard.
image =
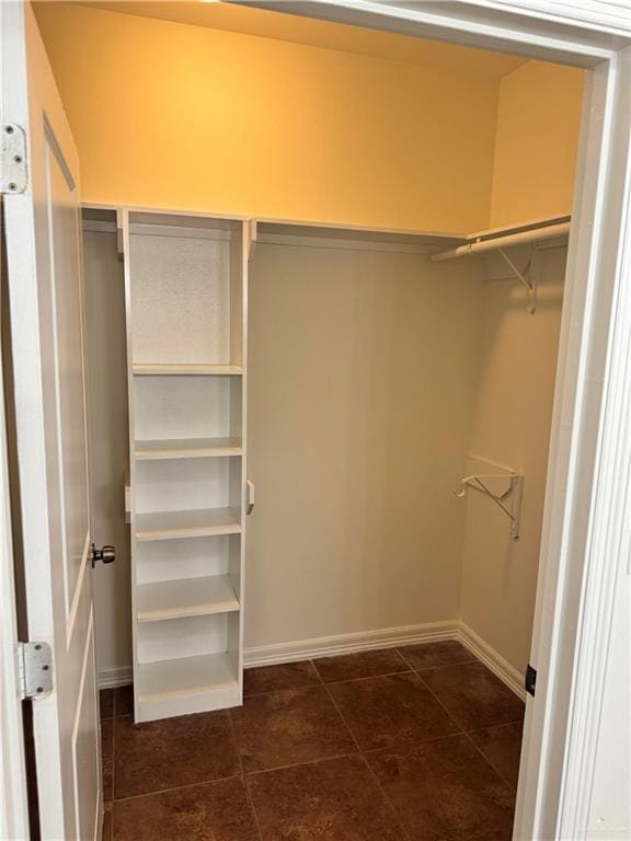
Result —
<instances>
[{"instance_id":1,"label":"beige right side wall below the hanging rod, above the baseboard","mask_svg":"<svg viewBox=\"0 0 631 841\"><path fill-rule=\"evenodd\" d=\"M492 502L468 495L460 618L519 671L530 650L565 256L565 247L540 253L536 314L515 280L489 280L481 302L470 452L524 473L521 537L510 540ZM487 272L504 274L495 260Z\"/></svg>"}]
</instances>

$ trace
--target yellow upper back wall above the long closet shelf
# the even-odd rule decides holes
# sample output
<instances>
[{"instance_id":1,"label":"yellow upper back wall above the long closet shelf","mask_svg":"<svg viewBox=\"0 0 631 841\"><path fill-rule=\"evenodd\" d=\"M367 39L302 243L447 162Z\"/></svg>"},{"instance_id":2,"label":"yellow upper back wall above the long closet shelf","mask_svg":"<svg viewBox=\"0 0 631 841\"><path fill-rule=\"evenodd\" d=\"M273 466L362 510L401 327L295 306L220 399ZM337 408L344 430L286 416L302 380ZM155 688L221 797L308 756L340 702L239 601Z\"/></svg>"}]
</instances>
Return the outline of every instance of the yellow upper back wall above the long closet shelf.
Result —
<instances>
[{"instance_id":1,"label":"yellow upper back wall above the long closet shelf","mask_svg":"<svg viewBox=\"0 0 631 841\"><path fill-rule=\"evenodd\" d=\"M485 227L497 83L36 4L84 201L462 232Z\"/></svg>"}]
</instances>

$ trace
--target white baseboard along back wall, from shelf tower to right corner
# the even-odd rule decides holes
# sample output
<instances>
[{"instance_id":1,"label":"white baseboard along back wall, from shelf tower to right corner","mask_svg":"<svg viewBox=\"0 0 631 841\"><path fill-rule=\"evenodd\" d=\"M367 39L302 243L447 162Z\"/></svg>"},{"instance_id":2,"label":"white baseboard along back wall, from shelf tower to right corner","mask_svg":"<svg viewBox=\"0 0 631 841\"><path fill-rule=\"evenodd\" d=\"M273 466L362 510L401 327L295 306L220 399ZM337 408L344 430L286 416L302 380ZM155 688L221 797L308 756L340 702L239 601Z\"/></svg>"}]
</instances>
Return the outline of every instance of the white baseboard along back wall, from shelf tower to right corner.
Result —
<instances>
[{"instance_id":1,"label":"white baseboard along back wall, from shelf tower to right corner","mask_svg":"<svg viewBox=\"0 0 631 841\"><path fill-rule=\"evenodd\" d=\"M379 631L360 631L335 636L319 636L312 640L299 640L295 643L278 643L245 648L245 667L275 666L294 660L332 657L336 654L353 654L377 648L394 648L398 645L414 645L439 640L455 640L459 623L428 622L423 625L403 625L386 627Z\"/></svg>"}]
</instances>

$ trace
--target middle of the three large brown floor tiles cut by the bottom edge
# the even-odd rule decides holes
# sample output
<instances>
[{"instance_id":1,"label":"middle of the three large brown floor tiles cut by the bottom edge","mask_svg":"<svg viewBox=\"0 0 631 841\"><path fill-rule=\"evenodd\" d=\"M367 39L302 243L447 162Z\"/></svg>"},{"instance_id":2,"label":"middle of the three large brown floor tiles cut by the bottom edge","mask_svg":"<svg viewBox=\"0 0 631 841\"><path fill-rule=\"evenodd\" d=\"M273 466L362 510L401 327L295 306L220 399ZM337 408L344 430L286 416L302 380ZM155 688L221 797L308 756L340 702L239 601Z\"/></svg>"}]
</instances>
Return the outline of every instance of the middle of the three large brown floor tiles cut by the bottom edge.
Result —
<instances>
[{"instance_id":1,"label":"middle of the three large brown floor tiles cut by the bottom edge","mask_svg":"<svg viewBox=\"0 0 631 841\"><path fill-rule=\"evenodd\" d=\"M248 776L263 841L403 841L358 754Z\"/></svg>"}]
</instances>

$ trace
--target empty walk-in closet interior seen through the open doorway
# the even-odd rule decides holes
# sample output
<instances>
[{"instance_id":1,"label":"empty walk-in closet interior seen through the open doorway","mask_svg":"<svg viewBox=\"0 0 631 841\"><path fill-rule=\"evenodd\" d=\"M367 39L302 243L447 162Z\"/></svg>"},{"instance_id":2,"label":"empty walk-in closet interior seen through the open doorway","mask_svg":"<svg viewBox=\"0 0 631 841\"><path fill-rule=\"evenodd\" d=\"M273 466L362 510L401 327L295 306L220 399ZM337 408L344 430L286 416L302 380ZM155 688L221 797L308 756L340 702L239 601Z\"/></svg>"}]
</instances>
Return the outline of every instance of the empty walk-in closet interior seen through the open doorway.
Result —
<instances>
[{"instance_id":1,"label":"empty walk-in closet interior seen through the open doorway","mask_svg":"<svg viewBox=\"0 0 631 841\"><path fill-rule=\"evenodd\" d=\"M331 806L335 838L509 838L582 71L223 3L35 11L82 168L113 838L142 795L180 839L167 795L238 777L260 834L200 839L332 840L265 817L294 784L316 809L267 776L295 768L399 814ZM397 774L443 761L468 794L429 819Z\"/></svg>"}]
</instances>

